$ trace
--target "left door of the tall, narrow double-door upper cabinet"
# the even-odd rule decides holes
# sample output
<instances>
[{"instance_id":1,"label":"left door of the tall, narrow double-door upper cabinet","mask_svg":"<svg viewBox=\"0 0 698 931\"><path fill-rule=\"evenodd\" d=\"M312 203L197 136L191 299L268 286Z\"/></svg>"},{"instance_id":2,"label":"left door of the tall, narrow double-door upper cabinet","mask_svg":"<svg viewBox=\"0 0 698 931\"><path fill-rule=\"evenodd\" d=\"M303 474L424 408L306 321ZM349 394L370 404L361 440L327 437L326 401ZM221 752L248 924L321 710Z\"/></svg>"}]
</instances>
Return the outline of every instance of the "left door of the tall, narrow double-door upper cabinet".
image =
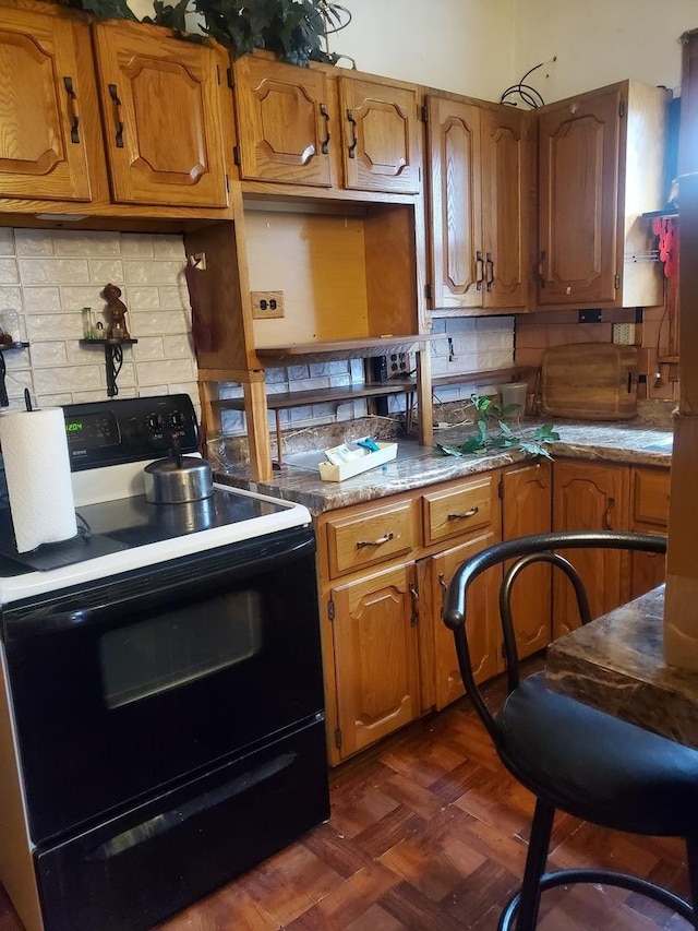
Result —
<instances>
[{"instance_id":1,"label":"left door of the tall, narrow double-door upper cabinet","mask_svg":"<svg viewBox=\"0 0 698 931\"><path fill-rule=\"evenodd\" d=\"M435 96L426 108L434 307L482 307L480 108Z\"/></svg>"}]
</instances>

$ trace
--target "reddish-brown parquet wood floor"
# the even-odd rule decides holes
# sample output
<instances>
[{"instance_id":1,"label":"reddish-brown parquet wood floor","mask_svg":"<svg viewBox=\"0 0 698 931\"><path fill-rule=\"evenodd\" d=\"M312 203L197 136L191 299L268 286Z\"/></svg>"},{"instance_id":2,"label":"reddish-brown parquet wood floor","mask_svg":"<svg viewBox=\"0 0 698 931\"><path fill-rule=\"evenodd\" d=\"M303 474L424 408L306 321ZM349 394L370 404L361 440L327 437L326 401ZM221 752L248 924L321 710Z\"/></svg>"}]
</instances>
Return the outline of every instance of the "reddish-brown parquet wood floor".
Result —
<instances>
[{"instance_id":1,"label":"reddish-brown parquet wood floor","mask_svg":"<svg viewBox=\"0 0 698 931\"><path fill-rule=\"evenodd\" d=\"M522 874L532 809L461 700L335 771L327 824L159 931L494 931ZM687 895L674 839L558 814L549 862L626 870ZM640 896L597 886L551 890L539 922L540 931L688 927ZM7 900L0 931L21 931Z\"/></svg>"}]
</instances>

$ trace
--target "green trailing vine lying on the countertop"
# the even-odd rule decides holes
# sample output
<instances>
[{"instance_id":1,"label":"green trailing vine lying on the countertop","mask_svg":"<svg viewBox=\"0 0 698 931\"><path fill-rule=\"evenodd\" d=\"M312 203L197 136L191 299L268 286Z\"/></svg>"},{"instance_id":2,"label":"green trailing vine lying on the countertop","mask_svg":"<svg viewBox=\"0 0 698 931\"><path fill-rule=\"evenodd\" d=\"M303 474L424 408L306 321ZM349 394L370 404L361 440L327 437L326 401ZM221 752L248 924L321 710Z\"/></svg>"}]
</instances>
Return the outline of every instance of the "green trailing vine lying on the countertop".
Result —
<instances>
[{"instance_id":1,"label":"green trailing vine lying on the countertop","mask_svg":"<svg viewBox=\"0 0 698 931\"><path fill-rule=\"evenodd\" d=\"M477 431L459 446L437 443L436 449L444 455L483 456L500 450L520 450L529 456L544 456L552 459L544 445L559 440L559 433L555 432L552 423L541 423L526 435L520 426L518 432L515 432L505 420L506 417L518 414L520 405L502 406L491 397L480 397L477 394L472 395L471 403L476 414Z\"/></svg>"}]
</instances>

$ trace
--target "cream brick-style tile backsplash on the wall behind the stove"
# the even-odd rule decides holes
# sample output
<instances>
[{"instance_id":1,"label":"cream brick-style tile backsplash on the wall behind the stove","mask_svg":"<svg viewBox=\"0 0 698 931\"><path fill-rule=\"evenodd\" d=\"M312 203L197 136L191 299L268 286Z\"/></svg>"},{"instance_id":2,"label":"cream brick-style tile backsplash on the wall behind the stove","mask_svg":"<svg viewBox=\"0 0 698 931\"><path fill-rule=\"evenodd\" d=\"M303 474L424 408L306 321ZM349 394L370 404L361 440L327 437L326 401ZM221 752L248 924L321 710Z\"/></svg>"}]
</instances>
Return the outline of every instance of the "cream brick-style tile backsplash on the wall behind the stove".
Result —
<instances>
[{"instance_id":1,"label":"cream brick-style tile backsplash on the wall behind the stove","mask_svg":"<svg viewBox=\"0 0 698 931\"><path fill-rule=\"evenodd\" d=\"M16 258L15 258L16 256ZM0 229L0 310L16 309L31 347L5 353L11 406L105 401L104 349L83 347L81 310L107 325L101 290L119 285L127 324L119 396L186 392L198 406L181 236Z\"/></svg>"}]
</instances>

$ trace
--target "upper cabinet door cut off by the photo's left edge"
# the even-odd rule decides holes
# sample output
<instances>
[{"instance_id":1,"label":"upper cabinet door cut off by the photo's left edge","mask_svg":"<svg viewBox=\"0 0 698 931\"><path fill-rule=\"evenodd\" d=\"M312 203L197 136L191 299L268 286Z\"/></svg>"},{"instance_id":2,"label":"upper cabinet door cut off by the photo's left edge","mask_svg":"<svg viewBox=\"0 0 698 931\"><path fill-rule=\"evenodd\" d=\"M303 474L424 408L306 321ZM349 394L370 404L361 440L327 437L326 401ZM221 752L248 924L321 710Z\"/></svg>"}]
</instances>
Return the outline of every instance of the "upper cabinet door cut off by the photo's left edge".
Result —
<instances>
[{"instance_id":1,"label":"upper cabinet door cut off by the photo's left edge","mask_svg":"<svg viewBox=\"0 0 698 931\"><path fill-rule=\"evenodd\" d=\"M88 201L73 39L84 27L7 8L1 20L0 196Z\"/></svg>"}]
</instances>

